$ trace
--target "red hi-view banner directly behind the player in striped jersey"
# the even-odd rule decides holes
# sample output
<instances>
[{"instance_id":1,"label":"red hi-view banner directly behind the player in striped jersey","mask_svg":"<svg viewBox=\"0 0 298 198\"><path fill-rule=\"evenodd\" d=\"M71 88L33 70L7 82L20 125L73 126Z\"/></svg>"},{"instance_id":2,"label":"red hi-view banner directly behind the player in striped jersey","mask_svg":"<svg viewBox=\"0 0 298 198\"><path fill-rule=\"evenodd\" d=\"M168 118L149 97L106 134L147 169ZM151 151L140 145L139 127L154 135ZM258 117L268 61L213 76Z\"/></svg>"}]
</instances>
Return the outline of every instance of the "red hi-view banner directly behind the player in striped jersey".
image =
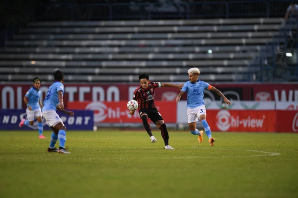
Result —
<instances>
[{"instance_id":1,"label":"red hi-view banner directly behind the player in striped jersey","mask_svg":"<svg viewBox=\"0 0 298 198\"><path fill-rule=\"evenodd\" d=\"M165 123L176 123L177 105L173 101L155 101L156 108ZM133 116L129 114L127 101L118 102L69 102L70 109L88 109L94 111L94 123L140 123L138 111Z\"/></svg>"}]
</instances>

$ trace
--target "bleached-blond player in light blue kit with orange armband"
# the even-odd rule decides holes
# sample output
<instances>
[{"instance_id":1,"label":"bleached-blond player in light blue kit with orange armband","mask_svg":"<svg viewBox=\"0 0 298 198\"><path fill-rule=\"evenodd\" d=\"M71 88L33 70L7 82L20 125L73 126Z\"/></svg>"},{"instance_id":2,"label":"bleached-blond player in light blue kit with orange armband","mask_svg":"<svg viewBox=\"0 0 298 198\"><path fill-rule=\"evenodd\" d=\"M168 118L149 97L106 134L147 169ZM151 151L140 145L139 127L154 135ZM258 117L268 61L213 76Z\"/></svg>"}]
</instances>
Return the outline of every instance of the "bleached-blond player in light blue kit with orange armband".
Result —
<instances>
[{"instance_id":1,"label":"bleached-blond player in light blue kit with orange armband","mask_svg":"<svg viewBox=\"0 0 298 198\"><path fill-rule=\"evenodd\" d=\"M208 136L210 146L214 146L215 139L211 135L210 127L206 121L206 108L204 103L204 90L208 89L217 93L220 97L224 99L224 102L228 105L231 102L225 98L225 96L215 87L205 83L198 79L200 70L196 67L191 68L187 71L189 76L189 81L187 81L182 87L180 93L176 98L176 102L178 102L183 94L187 92L187 121L190 133L193 135L198 135L199 143L203 142L203 131L199 131L196 129L196 122L198 118L203 124L205 129L205 133Z\"/></svg>"}]
</instances>

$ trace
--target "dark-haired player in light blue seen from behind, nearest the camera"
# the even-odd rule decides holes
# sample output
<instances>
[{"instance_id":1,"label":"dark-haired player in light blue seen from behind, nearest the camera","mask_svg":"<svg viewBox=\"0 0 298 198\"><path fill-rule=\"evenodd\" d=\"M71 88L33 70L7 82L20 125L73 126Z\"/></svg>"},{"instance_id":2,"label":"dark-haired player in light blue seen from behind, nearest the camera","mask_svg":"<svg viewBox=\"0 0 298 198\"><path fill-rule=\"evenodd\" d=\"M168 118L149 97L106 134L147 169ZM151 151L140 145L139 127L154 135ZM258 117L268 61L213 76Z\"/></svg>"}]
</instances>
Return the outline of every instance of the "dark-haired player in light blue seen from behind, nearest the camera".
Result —
<instances>
[{"instance_id":1,"label":"dark-haired player in light blue seen from behind, nearest the camera","mask_svg":"<svg viewBox=\"0 0 298 198\"><path fill-rule=\"evenodd\" d=\"M64 75L62 71L57 70L54 72L53 85L49 87L47 96L44 99L44 106L42 108L42 116L45 118L46 123L52 128L53 133L51 135L51 143L48 148L48 152L59 152L70 154L65 148L66 142L66 128L56 112L56 109L74 116L73 111L67 111L64 109L63 95L64 95ZM59 139L59 149L55 147L57 140Z\"/></svg>"}]
</instances>

